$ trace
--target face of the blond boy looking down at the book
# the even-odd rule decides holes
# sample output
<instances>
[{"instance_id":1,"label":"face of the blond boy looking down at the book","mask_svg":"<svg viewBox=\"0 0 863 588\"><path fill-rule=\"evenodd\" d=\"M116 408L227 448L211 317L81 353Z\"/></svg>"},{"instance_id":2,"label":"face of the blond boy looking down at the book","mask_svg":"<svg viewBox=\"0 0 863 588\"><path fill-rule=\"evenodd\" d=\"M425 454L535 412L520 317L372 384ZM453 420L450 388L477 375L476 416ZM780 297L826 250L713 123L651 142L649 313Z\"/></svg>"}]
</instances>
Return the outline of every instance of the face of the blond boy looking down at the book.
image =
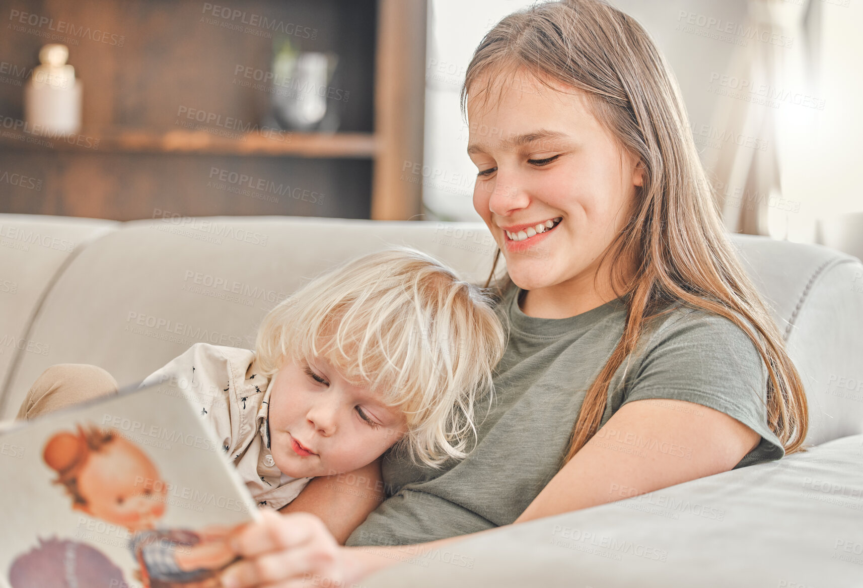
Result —
<instances>
[{"instance_id":1,"label":"face of the blond boy looking down at the book","mask_svg":"<svg viewBox=\"0 0 863 588\"><path fill-rule=\"evenodd\" d=\"M287 358L270 386L270 449L275 465L288 476L354 471L406 433L405 415L398 408L345 382L323 357L308 364Z\"/></svg>"}]
</instances>

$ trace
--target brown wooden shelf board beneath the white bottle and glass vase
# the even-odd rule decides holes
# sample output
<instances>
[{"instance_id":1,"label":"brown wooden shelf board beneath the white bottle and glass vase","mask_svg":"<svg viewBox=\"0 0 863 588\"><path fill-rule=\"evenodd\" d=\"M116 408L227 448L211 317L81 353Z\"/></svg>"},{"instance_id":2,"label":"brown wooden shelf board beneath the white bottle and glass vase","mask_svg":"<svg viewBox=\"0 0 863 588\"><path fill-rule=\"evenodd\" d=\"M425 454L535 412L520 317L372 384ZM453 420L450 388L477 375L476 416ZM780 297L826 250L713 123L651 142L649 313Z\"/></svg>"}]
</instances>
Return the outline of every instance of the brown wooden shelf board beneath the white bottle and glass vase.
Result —
<instances>
[{"instance_id":1,"label":"brown wooden shelf board beneath the white bottle and glass vase","mask_svg":"<svg viewBox=\"0 0 863 588\"><path fill-rule=\"evenodd\" d=\"M224 135L223 135L224 134ZM371 159L377 153L373 133L300 133L230 130L87 130L70 136L40 136L3 130L0 149L63 149L101 153L182 153Z\"/></svg>"}]
</instances>

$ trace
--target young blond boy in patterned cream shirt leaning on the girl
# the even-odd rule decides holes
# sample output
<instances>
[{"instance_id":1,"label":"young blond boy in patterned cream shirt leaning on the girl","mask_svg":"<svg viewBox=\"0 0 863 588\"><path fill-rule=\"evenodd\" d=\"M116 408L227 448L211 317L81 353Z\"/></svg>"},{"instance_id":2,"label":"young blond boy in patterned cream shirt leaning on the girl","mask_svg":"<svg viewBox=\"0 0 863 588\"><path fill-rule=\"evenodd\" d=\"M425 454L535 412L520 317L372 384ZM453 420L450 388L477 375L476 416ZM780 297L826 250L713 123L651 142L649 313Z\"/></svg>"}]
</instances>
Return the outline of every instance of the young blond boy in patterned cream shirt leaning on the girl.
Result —
<instances>
[{"instance_id":1,"label":"young blond boy in patterned cream shirt leaning on the girl","mask_svg":"<svg viewBox=\"0 0 863 588\"><path fill-rule=\"evenodd\" d=\"M479 288L399 247L344 262L283 300L255 351L198 343L143 384L183 389L259 507L280 509L312 477L354 471L390 447L431 466L465 457L505 343ZM47 370L19 418L85 400L92 376L77 364Z\"/></svg>"}]
</instances>

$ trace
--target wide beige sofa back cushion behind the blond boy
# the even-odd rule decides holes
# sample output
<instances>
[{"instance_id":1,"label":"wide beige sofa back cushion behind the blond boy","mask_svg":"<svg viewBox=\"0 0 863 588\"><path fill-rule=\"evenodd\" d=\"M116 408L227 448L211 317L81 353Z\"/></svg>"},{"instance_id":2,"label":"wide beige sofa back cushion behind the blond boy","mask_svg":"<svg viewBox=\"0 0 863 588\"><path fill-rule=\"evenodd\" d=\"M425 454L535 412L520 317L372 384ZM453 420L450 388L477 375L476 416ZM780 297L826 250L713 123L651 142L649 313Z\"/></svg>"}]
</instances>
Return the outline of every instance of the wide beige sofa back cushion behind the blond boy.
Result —
<instances>
[{"instance_id":1,"label":"wide beige sofa back cushion behind the blond boy","mask_svg":"<svg viewBox=\"0 0 863 588\"><path fill-rule=\"evenodd\" d=\"M254 347L268 310L344 259L404 243L484 281L494 242L481 223L336 218L154 218L130 221L81 251L57 280L6 387L3 418L52 364L97 364L121 386L198 341ZM5 313L4 313L5 316Z\"/></svg>"}]
</instances>

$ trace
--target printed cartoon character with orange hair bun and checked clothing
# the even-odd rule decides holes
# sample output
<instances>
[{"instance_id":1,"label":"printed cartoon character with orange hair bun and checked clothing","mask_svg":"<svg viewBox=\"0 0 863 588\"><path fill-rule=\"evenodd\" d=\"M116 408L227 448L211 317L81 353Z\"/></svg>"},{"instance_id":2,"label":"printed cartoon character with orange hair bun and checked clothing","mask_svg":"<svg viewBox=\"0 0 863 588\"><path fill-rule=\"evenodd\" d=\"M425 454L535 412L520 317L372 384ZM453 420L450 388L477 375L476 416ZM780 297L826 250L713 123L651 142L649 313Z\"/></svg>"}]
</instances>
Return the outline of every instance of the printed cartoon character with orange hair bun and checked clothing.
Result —
<instances>
[{"instance_id":1,"label":"printed cartoon character with orange hair bun and checked clothing","mask_svg":"<svg viewBox=\"0 0 863 588\"><path fill-rule=\"evenodd\" d=\"M116 429L90 425L55 433L42 452L72 497L72 508L129 529L129 549L149 588L210 588L217 570L234 560L224 542L230 528L157 528L167 484L147 454Z\"/></svg>"}]
</instances>

